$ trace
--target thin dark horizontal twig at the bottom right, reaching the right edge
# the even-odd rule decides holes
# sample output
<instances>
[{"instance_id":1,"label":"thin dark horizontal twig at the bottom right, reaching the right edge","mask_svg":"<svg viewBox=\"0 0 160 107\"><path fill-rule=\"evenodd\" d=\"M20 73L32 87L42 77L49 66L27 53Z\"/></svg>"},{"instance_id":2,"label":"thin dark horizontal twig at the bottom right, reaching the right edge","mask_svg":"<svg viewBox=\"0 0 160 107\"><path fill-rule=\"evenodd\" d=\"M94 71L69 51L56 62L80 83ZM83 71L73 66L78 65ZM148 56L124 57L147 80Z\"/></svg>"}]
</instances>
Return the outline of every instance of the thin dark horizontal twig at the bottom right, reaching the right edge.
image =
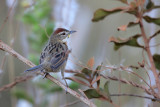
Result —
<instances>
[{"instance_id":1,"label":"thin dark horizontal twig at the bottom right, reaching the right edge","mask_svg":"<svg viewBox=\"0 0 160 107\"><path fill-rule=\"evenodd\" d=\"M152 101L160 101L160 99L158 99L158 98L152 98L152 97L148 97L148 96L141 96L141 95L135 95L135 94L110 94L110 96L112 96L112 97L114 97L114 96L132 96L132 97L145 98L145 99L149 99Z\"/></svg>"}]
</instances>

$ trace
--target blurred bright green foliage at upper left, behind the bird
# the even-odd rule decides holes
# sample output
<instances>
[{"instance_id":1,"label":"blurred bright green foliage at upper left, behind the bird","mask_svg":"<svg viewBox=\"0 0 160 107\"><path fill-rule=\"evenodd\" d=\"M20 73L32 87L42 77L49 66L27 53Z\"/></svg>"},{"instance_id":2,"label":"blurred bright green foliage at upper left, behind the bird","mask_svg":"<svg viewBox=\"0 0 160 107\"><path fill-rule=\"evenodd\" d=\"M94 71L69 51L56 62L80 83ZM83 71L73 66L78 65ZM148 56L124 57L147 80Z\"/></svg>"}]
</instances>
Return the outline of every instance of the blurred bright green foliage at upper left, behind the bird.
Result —
<instances>
[{"instance_id":1,"label":"blurred bright green foliage at upper left, behind the bird","mask_svg":"<svg viewBox=\"0 0 160 107\"><path fill-rule=\"evenodd\" d=\"M24 6L22 1L22 4ZM51 5L49 0L38 0L31 7L24 10L22 21L26 23L31 33L28 40L31 49L40 55L44 44L48 40L48 35L53 32L54 22L51 17ZM26 6L26 5L25 5ZM29 55L29 59L38 64L37 54ZM35 61L36 60L36 61Z\"/></svg>"}]
</instances>

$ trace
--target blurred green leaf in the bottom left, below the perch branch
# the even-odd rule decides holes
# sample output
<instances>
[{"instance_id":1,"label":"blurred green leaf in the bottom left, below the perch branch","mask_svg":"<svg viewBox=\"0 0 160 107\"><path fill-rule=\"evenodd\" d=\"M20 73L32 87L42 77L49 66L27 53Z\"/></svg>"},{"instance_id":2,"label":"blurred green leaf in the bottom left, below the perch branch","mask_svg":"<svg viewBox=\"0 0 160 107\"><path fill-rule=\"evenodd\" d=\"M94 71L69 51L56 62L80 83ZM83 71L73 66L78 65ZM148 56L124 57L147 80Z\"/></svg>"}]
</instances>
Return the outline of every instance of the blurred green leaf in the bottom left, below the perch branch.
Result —
<instances>
[{"instance_id":1,"label":"blurred green leaf in the bottom left, below the perch branch","mask_svg":"<svg viewBox=\"0 0 160 107\"><path fill-rule=\"evenodd\" d=\"M12 94L17 98L17 99L24 99L32 104L34 104L34 99L29 96L28 93L26 93L26 91L24 91L23 89L18 89L16 88L16 90L14 90L12 92Z\"/></svg>"}]
</instances>

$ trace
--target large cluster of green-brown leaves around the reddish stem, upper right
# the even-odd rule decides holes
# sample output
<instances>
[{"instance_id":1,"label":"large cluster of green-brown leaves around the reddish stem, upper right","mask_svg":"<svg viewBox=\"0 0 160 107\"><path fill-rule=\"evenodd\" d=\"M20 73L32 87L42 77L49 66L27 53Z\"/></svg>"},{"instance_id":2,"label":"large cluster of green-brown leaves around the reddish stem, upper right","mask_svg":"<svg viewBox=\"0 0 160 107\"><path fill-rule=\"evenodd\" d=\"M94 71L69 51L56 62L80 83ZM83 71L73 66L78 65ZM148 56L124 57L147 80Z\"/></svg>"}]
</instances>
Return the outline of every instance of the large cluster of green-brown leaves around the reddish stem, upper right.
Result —
<instances>
[{"instance_id":1,"label":"large cluster of green-brown leaves around the reddish stem, upper right","mask_svg":"<svg viewBox=\"0 0 160 107\"><path fill-rule=\"evenodd\" d=\"M128 22L128 24L118 27L117 28L118 31L126 31L127 28L137 26L137 25L140 26L140 22L139 22L140 17L142 17L142 19L148 23L153 23L160 26L160 17L154 18L149 15L146 15L146 13L151 12L152 10L160 9L160 5L156 5L152 0L133 0L131 2L128 2L127 0L117 0L117 1L125 4L125 6L117 7L110 10L100 8L95 11L92 21L98 22L112 14L123 12L136 17L137 20L135 22ZM153 35L151 35L150 38L154 38L155 36L157 36L159 34L159 31L160 30L158 30L158 33L155 32ZM119 38L119 37L110 37L109 42L114 43L114 50L116 51L123 46L131 46L131 47L137 47L142 49L148 48L139 44L138 39L140 37L142 37L142 34L131 35L129 38L125 38L125 39ZM155 65L158 70L160 70L159 57L160 57L159 54L153 55Z\"/></svg>"}]
</instances>

